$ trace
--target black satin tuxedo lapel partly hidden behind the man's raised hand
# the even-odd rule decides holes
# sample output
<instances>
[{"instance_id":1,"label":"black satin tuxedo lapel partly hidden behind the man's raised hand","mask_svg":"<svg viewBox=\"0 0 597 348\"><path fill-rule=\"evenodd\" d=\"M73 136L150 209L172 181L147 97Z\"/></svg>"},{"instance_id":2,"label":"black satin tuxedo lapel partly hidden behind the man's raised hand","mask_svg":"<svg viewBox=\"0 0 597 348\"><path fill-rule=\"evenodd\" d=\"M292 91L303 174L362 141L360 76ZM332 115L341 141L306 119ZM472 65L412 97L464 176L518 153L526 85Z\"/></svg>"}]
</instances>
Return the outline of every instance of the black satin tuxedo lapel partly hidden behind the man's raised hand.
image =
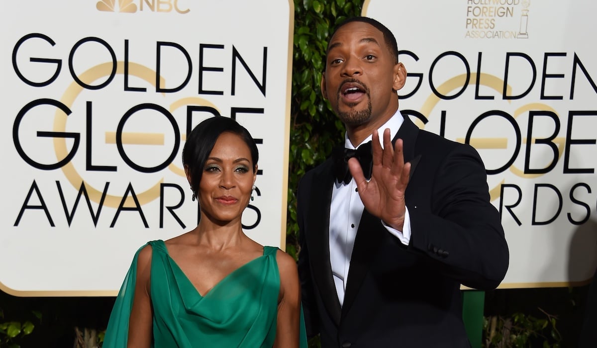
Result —
<instances>
[{"instance_id":1,"label":"black satin tuxedo lapel partly hidden behind the man's raised hand","mask_svg":"<svg viewBox=\"0 0 597 348\"><path fill-rule=\"evenodd\" d=\"M415 143L417 141L418 127L410 121L408 116L405 116L404 122L400 126L395 137L392 139L392 144L397 139L402 139L404 150L404 162L411 162L410 176L413 176L417 168L418 161L421 156L414 154ZM329 211L329 210L328 210ZM350 257L350 269L348 271L348 282L346 284L346 294L344 294L344 304L342 306L342 316L350 310L350 306L355 301L359 288L365 275L367 275L371 260L376 255L378 245L380 245L382 233L388 233L381 224L381 221L368 213L363 211L359 229L356 232L355 247L352 250Z\"/></svg>"}]
</instances>

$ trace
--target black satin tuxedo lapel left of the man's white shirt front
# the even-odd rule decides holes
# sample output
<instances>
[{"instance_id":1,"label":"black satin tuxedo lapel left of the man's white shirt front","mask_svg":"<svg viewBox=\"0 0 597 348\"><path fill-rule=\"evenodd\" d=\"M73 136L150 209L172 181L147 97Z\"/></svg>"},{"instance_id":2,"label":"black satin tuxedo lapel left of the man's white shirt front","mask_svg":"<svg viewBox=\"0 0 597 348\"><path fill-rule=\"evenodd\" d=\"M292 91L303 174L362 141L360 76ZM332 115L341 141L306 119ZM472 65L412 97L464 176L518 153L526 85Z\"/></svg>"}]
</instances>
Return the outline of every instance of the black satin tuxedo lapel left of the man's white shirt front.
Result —
<instances>
[{"instance_id":1,"label":"black satin tuxedo lapel left of the man's white shirt front","mask_svg":"<svg viewBox=\"0 0 597 348\"><path fill-rule=\"evenodd\" d=\"M307 241L313 278L330 316L336 324L340 324L340 301L330 264L330 204L334 186L332 163L328 160L321 171L314 175L315 180L310 188L312 192L309 193L311 199L306 230L309 231Z\"/></svg>"}]
</instances>

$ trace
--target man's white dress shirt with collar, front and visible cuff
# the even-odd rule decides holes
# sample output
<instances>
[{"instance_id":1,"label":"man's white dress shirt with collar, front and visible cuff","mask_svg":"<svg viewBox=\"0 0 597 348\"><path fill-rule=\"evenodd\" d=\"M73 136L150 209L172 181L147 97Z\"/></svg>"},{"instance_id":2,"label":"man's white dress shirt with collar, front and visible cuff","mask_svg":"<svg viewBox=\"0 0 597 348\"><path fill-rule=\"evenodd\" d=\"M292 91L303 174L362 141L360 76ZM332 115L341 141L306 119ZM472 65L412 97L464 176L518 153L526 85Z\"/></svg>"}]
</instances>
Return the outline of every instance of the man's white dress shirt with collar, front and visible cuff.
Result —
<instances>
[{"instance_id":1,"label":"man's white dress shirt with collar, front and visible cuff","mask_svg":"<svg viewBox=\"0 0 597 348\"><path fill-rule=\"evenodd\" d=\"M390 138L393 138L398 129L402 125L404 118L399 110L390 118L383 126L381 126L377 133L381 147L383 148L383 131L390 128ZM348 135L344 135L344 146L347 149L355 149L350 143ZM361 144L367 143L371 140L369 135ZM360 145L360 144L359 144ZM350 267L350 257L352 249L355 246L356 231L359 229L361 216L364 210L361 196L356 190L355 179L352 178L348 184L338 183L334 181L332 189L332 201L330 205L330 263L332 267L332 275L334 284L336 284L336 292L340 306L344 303L344 292L346 291L346 284L348 281L348 269ZM381 221L383 223L383 221ZM404 216L404 227L402 231L395 230L387 224L383 223L389 233L396 236L402 244L408 245L410 241L410 218L408 209Z\"/></svg>"}]
</instances>

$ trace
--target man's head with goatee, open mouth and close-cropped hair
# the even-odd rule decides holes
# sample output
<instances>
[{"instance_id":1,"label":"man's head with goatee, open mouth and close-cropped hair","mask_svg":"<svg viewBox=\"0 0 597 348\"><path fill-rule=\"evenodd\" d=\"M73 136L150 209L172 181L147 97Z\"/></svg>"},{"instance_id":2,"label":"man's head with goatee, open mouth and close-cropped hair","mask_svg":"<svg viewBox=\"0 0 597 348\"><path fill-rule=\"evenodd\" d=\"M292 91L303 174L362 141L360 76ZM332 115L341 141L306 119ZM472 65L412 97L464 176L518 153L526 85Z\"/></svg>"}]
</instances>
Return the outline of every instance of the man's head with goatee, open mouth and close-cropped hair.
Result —
<instances>
[{"instance_id":1,"label":"man's head with goatee, open mouth and close-cropped hair","mask_svg":"<svg viewBox=\"0 0 597 348\"><path fill-rule=\"evenodd\" d=\"M398 109L396 90L406 72L387 48L383 33L353 21L340 27L328 45L321 91L347 127L389 119ZM381 125L381 124L380 124Z\"/></svg>"}]
</instances>

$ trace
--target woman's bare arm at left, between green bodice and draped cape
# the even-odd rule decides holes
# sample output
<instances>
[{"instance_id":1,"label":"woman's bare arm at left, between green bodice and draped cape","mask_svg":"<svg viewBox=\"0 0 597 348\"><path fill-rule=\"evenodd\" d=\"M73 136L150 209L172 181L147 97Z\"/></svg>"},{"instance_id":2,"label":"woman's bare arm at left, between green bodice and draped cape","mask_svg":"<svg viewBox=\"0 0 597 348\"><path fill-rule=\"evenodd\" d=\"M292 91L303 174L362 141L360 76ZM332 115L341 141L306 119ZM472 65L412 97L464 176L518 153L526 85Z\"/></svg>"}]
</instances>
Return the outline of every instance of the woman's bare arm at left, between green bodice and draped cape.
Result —
<instances>
[{"instance_id":1,"label":"woman's bare arm at left, between green bodice and draped cape","mask_svg":"<svg viewBox=\"0 0 597 348\"><path fill-rule=\"evenodd\" d=\"M152 248L147 245L139 252L137 261L137 281L133 309L128 322L127 347L151 346L153 329L153 308L150 297Z\"/></svg>"}]
</instances>

